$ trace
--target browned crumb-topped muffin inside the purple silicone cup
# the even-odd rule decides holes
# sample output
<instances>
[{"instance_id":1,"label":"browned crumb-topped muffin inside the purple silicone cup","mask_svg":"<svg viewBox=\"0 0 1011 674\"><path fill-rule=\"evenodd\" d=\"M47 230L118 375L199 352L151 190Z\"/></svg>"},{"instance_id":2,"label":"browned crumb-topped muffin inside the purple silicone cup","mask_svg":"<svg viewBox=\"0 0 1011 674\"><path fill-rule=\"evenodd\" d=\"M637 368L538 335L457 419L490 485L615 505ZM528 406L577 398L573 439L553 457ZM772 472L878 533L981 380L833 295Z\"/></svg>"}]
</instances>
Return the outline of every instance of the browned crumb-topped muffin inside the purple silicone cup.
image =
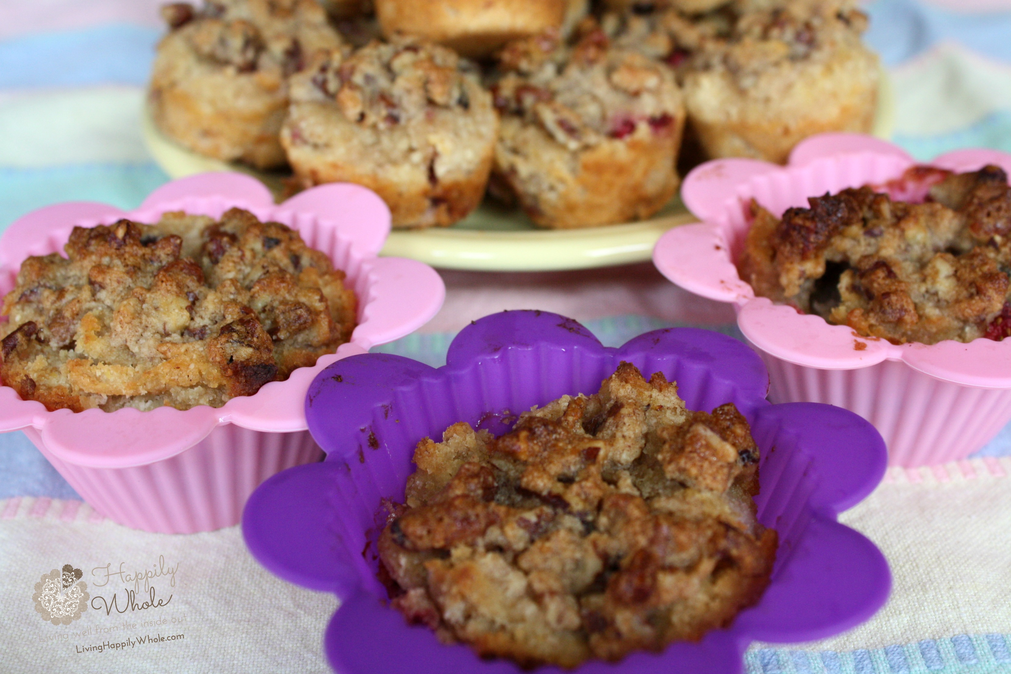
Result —
<instances>
[{"instance_id":1,"label":"browned crumb-topped muffin inside the purple silicone cup","mask_svg":"<svg viewBox=\"0 0 1011 674\"><path fill-rule=\"evenodd\" d=\"M698 641L764 590L758 450L733 404L690 411L628 363L492 438L424 440L378 544L392 605L446 643L575 667Z\"/></svg>"}]
</instances>

